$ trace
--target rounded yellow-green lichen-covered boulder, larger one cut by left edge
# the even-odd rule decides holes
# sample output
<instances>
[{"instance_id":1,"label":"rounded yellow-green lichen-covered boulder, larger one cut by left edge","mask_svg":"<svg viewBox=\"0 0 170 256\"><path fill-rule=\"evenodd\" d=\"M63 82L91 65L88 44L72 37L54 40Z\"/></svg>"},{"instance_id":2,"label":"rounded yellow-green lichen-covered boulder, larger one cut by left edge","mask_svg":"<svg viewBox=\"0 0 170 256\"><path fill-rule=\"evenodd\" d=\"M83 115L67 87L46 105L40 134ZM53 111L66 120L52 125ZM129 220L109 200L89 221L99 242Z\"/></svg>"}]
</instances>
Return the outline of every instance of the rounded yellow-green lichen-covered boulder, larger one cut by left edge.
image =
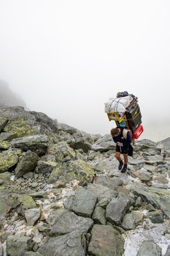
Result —
<instances>
[{"instance_id":1,"label":"rounded yellow-green lichen-covered boulder, larger one cut by left edge","mask_svg":"<svg viewBox=\"0 0 170 256\"><path fill-rule=\"evenodd\" d=\"M12 150L6 150L0 153L0 173L6 172L18 162L18 155Z\"/></svg>"}]
</instances>

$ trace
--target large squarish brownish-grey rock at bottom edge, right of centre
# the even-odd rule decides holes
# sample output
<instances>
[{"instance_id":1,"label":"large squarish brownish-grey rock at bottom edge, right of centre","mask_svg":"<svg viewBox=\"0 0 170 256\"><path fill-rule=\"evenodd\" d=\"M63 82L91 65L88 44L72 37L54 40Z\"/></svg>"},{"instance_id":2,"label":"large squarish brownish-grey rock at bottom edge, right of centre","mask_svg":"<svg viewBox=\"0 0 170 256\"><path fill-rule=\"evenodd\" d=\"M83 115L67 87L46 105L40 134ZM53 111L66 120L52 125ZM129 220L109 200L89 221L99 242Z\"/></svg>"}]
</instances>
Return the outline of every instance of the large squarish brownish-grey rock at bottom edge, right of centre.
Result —
<instances>
[{"instance_id":1,"label":"large squarish brownish-grey rock at bottom edge, right of centre","mask_svg":"<svg viewBox=\"0 0 170 256\"><path fill-rule=\"evenodd\" d=\"M119 232L108 225L95 224L88 246L89 255L121 256L124 239Z\"/></svg>"}]
</instances>

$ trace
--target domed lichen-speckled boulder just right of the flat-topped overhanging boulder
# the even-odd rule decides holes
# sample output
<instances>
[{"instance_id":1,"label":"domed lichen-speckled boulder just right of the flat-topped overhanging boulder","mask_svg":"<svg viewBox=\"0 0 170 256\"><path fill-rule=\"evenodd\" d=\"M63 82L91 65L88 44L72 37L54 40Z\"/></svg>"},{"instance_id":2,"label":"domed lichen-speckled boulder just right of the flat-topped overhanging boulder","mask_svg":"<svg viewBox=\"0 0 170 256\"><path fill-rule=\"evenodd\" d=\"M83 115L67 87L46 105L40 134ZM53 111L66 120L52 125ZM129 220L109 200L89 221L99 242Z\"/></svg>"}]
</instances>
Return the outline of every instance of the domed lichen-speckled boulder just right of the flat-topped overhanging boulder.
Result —
<instances>
[{"instance_id":1,"label":"domed lichen-speckled boulder just right of the flat-topped overhanging boulder","mask_svg":"<svg viewBox=\"0 0 170 256\"><path fill-rule=\"evenodd\" d=\"M57 163L64 162L65 159L71 160L75 157L75 151L69 147L69 145L65 141L61 141L50 146L47 150L47 154L55 155L55 159Z\"/></svg>"}]
</instances>

